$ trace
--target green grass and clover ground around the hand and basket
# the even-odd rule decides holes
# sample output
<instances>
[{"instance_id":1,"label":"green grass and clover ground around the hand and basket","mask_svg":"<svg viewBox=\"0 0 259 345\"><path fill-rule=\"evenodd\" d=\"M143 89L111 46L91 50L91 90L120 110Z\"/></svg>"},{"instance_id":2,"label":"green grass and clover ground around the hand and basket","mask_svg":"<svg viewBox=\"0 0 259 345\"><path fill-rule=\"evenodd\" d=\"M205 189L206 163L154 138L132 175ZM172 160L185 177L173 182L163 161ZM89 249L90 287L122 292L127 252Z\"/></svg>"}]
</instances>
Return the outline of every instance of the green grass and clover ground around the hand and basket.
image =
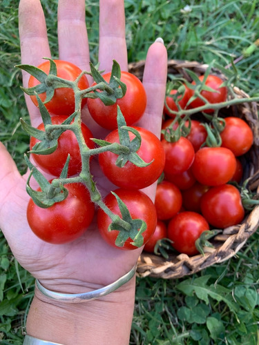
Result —
<instances>
[{"instance_id":1,"label":"green grass and clover ground around the hand and basket","mask_svg":"<svg viewBox=\"0 0 259 345\"><path fill-rule=\"evenodd\" d=\"M55 56L57 0L41 2ZM28 119L28 113L19 89L21 74L14 68L20 59L18 3L2 0L0 4L0 139L24 172L28 136L19 118ZM91 58L96 63L98 2L86 4ZM186 5L191 12L181 11ZM257 0L126 0L125 7L129 61L144 59L157 37L164 39L169 59L215 60L224 67L242 57L236 63L237 86L251 96L259 95L259 49L247 51L259 38ZM191 277L137 279L131 344L259 344L258 245L254 234L238 255ZM1 344L21 344L33 286L32 277L15 262L0 233Z\"/></svg>"}]
</instances>

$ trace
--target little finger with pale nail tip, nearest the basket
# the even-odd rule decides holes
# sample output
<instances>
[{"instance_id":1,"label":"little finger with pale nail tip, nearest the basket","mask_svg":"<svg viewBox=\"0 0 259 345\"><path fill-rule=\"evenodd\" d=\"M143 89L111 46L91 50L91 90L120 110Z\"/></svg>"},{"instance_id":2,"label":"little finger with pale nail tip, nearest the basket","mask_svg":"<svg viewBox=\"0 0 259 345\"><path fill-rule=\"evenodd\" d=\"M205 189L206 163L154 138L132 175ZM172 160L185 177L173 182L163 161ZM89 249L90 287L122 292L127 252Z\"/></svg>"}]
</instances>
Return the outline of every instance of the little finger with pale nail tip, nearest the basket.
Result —
<instances>
[{"instance_id":1,"label":"little finger with pale nail tip, nearest the basket","mask_svg":"<svg viewBox=\"0 0 259 345\"><path fill-rule=\"evenodd\" d=\"M145 113L137 124L150 130L159 138L167 78L167 52L160 40L152 44L146 55L143 85L147 103Z\"/></svg>"}]
</instances>

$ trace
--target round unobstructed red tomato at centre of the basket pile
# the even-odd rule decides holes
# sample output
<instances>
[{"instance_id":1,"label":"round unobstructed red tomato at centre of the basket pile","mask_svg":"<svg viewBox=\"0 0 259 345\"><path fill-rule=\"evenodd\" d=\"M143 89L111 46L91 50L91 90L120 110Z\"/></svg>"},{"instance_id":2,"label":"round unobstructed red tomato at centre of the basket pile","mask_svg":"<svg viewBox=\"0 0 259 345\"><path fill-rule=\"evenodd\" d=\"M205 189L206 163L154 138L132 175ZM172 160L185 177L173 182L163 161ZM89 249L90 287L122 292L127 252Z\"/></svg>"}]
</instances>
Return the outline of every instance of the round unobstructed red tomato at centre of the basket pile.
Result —
<instances>
[{"instance_id":1,"label":"round unobstructed red tomato at centre of the basket pile","mask_svg":"<svg viewBox=\"0 0 259 345\"><path fill-rule=\"evenodd\" d=\"M200 184L207 186L227 184L236 170L236 157L228 148L200 148L195 153L191 170Z\"/></svg>"}]
</instances>

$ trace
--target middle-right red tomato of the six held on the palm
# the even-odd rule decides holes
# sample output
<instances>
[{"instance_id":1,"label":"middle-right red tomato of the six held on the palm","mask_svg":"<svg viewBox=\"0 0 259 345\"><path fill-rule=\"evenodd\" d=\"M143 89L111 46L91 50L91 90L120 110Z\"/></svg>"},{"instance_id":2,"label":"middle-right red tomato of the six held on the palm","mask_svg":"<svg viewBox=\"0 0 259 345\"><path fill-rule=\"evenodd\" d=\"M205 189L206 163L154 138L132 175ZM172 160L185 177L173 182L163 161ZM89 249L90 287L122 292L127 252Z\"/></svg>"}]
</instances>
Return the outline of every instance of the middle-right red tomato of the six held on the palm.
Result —
<instances>
[{"instance_id":1,"label":"middle-right red tomato of the six held on the palm","mask_svg":"<svg viewBox=\"0 0 259 345\"><path fill-rule=\"evenodd\" d=\"M155 182L163 172L165 154L164 148L158 139L152 132L140 127L135 128L142 138L142 142L137 154L146 162L153 162L148 166L139 167L127 161L123 167L116 166L115 162L118 155L107 151L99 154L99 165L101 166L104 175L108 177L110 181L120 188L135 188L141 189L150 186ZM128 132L129 137L132 140L135 135L132 132ZM113 130L105 138L110 143L119 143L118 130Z\"/></svg>"}]
</instances>

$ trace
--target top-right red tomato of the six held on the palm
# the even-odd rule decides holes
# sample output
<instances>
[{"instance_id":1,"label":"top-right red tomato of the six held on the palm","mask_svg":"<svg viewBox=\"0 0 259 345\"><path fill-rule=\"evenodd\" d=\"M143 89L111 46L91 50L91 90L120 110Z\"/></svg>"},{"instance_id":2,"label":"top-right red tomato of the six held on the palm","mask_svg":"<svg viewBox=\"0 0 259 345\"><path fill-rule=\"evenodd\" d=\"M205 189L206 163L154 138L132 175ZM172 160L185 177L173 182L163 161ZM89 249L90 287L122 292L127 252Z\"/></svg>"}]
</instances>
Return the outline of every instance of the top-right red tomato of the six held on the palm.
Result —
<instances>
[{"instance_id":1,"label":"top-right red tomato of the six held on the palm","mask_svg":"<svg viewBox=\"0 0 259 345\"><path fill-rule=\"evenodd\" d=\"M103 75L106 81L111 78L111 72ZM131 126L142 117L146 109L146 92L140 79L129 72L122 71L121 81L126 84L124 97L117 99L112 106L105 106L100 99L88 99L88 110L93 119L100 126L109 130L117 128L117 106L128 126ZM93 83L96 85L96 83Z\"/></svg>"}]
</instances>

